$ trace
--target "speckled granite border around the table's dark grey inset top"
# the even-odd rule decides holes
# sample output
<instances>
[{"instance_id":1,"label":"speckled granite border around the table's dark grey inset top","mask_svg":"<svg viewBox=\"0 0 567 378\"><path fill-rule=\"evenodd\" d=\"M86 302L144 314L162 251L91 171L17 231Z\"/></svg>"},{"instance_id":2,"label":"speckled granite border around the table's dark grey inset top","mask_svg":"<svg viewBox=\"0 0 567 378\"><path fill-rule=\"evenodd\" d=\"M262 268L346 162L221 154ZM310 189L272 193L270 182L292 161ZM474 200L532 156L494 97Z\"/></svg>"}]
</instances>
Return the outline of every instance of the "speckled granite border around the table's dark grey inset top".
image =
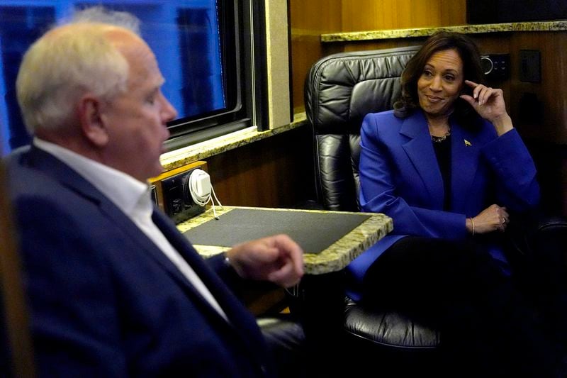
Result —
<instances>
[{"instance_id":1,"label":"speckled granite border around the table's dark grey inset top","mask_svg":"<svg viewBox=\"0 0 567 378\"><path fill-rule=\"evenodd\" d=\"M269 209L269 208L249 208L249 207L233 207L223 206L217 208L216 213L221 216L223 213L232 211L232 209L265 209L268 211L306 211L313 213L347 213L338 211L316 211L316 210L297 210L297 209ZM329 272L337 272L346 267L349 262L359 256L364 250L374 245L378 240L383 238L387 233L393 230L392 219L381 213L351 213L366 214L369 218L354 228L352 231L344 235L329 248L319 253L305 252L303 262L305 264L305 274L324 274ZM208 209L205 213L189 219L183 223L179 223L177 228L184 233L186 230L199 226L206 221L214 218L213 209ZM227 247L216 245L193 245L197 252L203 257L210 257L218 253L229 250Z\"/></svg>"}]
</instances>

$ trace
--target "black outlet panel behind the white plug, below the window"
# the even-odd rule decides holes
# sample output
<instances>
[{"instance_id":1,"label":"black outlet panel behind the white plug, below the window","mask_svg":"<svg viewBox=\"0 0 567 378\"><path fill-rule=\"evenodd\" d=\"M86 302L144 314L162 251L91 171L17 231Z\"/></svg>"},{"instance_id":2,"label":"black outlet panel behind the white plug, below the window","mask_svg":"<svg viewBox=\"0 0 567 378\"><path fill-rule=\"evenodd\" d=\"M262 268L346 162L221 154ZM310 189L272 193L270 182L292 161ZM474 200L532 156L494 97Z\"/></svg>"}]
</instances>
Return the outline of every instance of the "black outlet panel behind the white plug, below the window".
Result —
<instances>
[{"instance_id":1,"label":"black outlet panel behind the white plug, below the window","mask_svg":"<svg viewBox=\"0 0 567 378\"><path fill-rule=\"evenodd\" d=\"M204 206L195 204L191 199L188 183L193 169L162 179L164 211L175 223L181 223L205 211Z\"/></svg>"}]
</instances>

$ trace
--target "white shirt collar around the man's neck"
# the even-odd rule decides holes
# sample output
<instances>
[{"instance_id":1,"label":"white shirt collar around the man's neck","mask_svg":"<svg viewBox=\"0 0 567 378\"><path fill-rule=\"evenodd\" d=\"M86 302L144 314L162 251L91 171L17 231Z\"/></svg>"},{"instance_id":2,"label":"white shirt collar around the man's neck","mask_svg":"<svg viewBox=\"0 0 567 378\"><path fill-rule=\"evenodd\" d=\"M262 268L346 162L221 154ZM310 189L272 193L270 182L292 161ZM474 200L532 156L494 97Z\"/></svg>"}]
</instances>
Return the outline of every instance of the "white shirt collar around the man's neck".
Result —
<instances>
[{"instance_id":1,"label":"white shirt collar around the man's neck","mask_svg":"<svg viewBox=\"0 0 567 378\"><path fill-rule=\"evenodd\" d=\"M147 183L46 140L35 137L33 145L67 164L128 216L140 206L151 214L152 204Z\"/></svg>"}]
</instances>

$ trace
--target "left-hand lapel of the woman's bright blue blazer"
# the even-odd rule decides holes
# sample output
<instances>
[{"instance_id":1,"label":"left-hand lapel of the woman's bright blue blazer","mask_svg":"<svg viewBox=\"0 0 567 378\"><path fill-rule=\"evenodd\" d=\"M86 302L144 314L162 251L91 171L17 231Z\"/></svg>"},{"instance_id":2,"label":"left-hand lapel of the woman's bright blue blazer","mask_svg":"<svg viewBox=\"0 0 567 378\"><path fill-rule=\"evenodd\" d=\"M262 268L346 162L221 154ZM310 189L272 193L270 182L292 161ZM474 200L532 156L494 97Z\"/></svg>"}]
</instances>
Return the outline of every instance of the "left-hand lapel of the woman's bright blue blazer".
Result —
<instances>
[{"instance_id":1,"label":"left-hand lapel of the woman's bright blue blazer","mask_svg":"<svg viewBox=\"0 0 567 378\"><path fill-rule=\"evenodd\" d=\"M441 209L444 196L443 179L423 113L416 111L405 118L400 134L410 138L402 147L429 192L430 203L434 208Z\"/></svg>"}]
</instances>

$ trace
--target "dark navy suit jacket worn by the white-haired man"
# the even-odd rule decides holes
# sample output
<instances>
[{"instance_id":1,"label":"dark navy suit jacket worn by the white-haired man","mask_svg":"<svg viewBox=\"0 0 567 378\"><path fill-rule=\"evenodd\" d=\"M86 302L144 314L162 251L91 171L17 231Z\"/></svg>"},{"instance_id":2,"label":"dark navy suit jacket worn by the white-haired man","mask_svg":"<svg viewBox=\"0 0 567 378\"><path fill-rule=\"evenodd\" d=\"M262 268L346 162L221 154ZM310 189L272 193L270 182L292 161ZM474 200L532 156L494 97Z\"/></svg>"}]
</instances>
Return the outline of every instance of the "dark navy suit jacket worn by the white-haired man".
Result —
<instances>
[{"instance_id":1,"label":"dark navy suit jacket worn by the white-haired man","mask_svg":"<svg viewBox=\"0 0 567 378\"><path fill-rule=\"evenodd\" d=\"M9 160L8 172L41 377L273 372L254 317L169 218L154 211L158 228L230 323L124 213L60 160L32 147ZM229 273L220 259L208 263Z\"/></svg>"}]
</instances>

